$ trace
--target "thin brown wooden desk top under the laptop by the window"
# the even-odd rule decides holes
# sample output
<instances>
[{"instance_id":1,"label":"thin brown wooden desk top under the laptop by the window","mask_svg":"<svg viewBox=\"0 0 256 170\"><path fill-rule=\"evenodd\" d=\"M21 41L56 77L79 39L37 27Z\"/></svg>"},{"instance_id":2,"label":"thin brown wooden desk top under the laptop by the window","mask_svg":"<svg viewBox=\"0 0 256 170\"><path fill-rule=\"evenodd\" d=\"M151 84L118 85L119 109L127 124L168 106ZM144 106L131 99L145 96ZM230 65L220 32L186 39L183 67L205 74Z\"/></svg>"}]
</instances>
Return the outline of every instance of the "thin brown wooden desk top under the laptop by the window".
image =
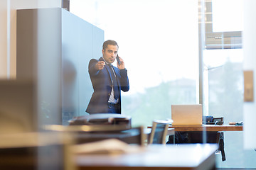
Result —
<instances>
[{"instance_id":1,"label":"thin brown wooden desk top under the laptop by the window","mask_svg":"<svg viewBox=\"0 0 256 170\"><path fill-rule=\"evenodd\" d=\"M169 128L175 131L242 131L242 126L236 125L170 125Z\"/></svg>"}]
</instances>

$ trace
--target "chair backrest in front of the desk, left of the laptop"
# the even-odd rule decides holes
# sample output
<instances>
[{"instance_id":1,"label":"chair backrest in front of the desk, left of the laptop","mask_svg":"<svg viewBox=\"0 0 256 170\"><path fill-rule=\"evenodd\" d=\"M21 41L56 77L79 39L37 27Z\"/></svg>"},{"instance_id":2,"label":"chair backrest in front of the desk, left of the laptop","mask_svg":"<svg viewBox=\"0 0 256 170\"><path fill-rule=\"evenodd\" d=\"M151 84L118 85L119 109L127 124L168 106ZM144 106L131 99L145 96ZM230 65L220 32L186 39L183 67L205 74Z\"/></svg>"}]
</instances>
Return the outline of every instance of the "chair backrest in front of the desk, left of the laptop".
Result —
<instances>
[{"instance_id":1,"label":"chair backrest in front of the desk, left of the laptop","mask_svg":"<svg viewBox=\"0 0 256 170\"><path fill-rule=\"evenodd\" d=\"M154 120L149 137L149 144L165 144L169 120Z\"/></svg>"}]
</instances>

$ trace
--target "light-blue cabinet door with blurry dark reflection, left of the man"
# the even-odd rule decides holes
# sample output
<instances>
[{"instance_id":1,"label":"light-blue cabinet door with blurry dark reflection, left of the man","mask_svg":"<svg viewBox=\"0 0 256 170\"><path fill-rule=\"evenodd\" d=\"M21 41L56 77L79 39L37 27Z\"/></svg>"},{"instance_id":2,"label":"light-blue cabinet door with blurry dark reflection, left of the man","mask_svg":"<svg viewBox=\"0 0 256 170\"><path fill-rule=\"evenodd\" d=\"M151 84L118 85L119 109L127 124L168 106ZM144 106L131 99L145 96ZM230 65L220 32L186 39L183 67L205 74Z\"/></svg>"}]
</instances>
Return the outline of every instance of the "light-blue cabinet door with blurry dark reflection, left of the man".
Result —
<instances>
[{"instance_id":1,"label":"light-blue cabinet door with blurry dark reflection, left of the man","mask_svg":"<svg viewBox=\"0 0 256 170\"><path fill-rule=\"evenodd\" d=\"M63 118L68 120L85 114L92 93L87 69L92 57L92 24L65 10L62 17Z\"/></svg>"}]
</instances>

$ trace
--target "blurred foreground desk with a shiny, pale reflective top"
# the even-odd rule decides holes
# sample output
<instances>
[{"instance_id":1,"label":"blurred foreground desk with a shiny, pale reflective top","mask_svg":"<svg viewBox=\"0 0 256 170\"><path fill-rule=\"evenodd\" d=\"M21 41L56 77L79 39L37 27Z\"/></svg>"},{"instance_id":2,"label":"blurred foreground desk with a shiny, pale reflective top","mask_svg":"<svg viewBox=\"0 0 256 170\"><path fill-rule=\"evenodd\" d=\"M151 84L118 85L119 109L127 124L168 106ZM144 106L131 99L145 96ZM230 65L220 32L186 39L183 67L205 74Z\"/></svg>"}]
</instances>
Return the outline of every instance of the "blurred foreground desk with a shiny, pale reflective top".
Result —
<instances>
[{"instance_id":1,"label":"blurred foreground desk with a shiny, pale reflective top","mask_svg":"<svg viewBox=\"0 0 256 170\"><path fill-rule=\"evenodd\" d=\"M215 144L150 145L127 154L80 154L80 170L215 169Z\"/></svg>"}]
</instances>

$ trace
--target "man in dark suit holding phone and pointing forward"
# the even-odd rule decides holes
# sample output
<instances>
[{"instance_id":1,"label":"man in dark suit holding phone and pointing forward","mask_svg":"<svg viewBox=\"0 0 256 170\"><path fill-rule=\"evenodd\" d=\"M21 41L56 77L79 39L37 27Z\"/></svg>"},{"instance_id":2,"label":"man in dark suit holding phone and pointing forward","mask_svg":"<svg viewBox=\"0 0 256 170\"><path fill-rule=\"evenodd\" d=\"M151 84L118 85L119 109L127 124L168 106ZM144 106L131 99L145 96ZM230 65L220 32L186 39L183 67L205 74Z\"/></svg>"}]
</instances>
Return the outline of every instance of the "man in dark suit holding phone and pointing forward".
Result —
<instances>
[{"instance_id":1,"label":"man in dark suit holding phone and pointing forward","mask_svg":"<svg viewBox=\"0 0 256 170\"><path fill-rule=\"evenodd\" d=\"M117 42L107 40L102 46L102 57L89 62L89 74L94 92L87 106L87 113L121 114L121 90L129 91L129 79L121 57L117 67L112 65L117 58L118 48Z\"/></svg>"}]
</instances>

